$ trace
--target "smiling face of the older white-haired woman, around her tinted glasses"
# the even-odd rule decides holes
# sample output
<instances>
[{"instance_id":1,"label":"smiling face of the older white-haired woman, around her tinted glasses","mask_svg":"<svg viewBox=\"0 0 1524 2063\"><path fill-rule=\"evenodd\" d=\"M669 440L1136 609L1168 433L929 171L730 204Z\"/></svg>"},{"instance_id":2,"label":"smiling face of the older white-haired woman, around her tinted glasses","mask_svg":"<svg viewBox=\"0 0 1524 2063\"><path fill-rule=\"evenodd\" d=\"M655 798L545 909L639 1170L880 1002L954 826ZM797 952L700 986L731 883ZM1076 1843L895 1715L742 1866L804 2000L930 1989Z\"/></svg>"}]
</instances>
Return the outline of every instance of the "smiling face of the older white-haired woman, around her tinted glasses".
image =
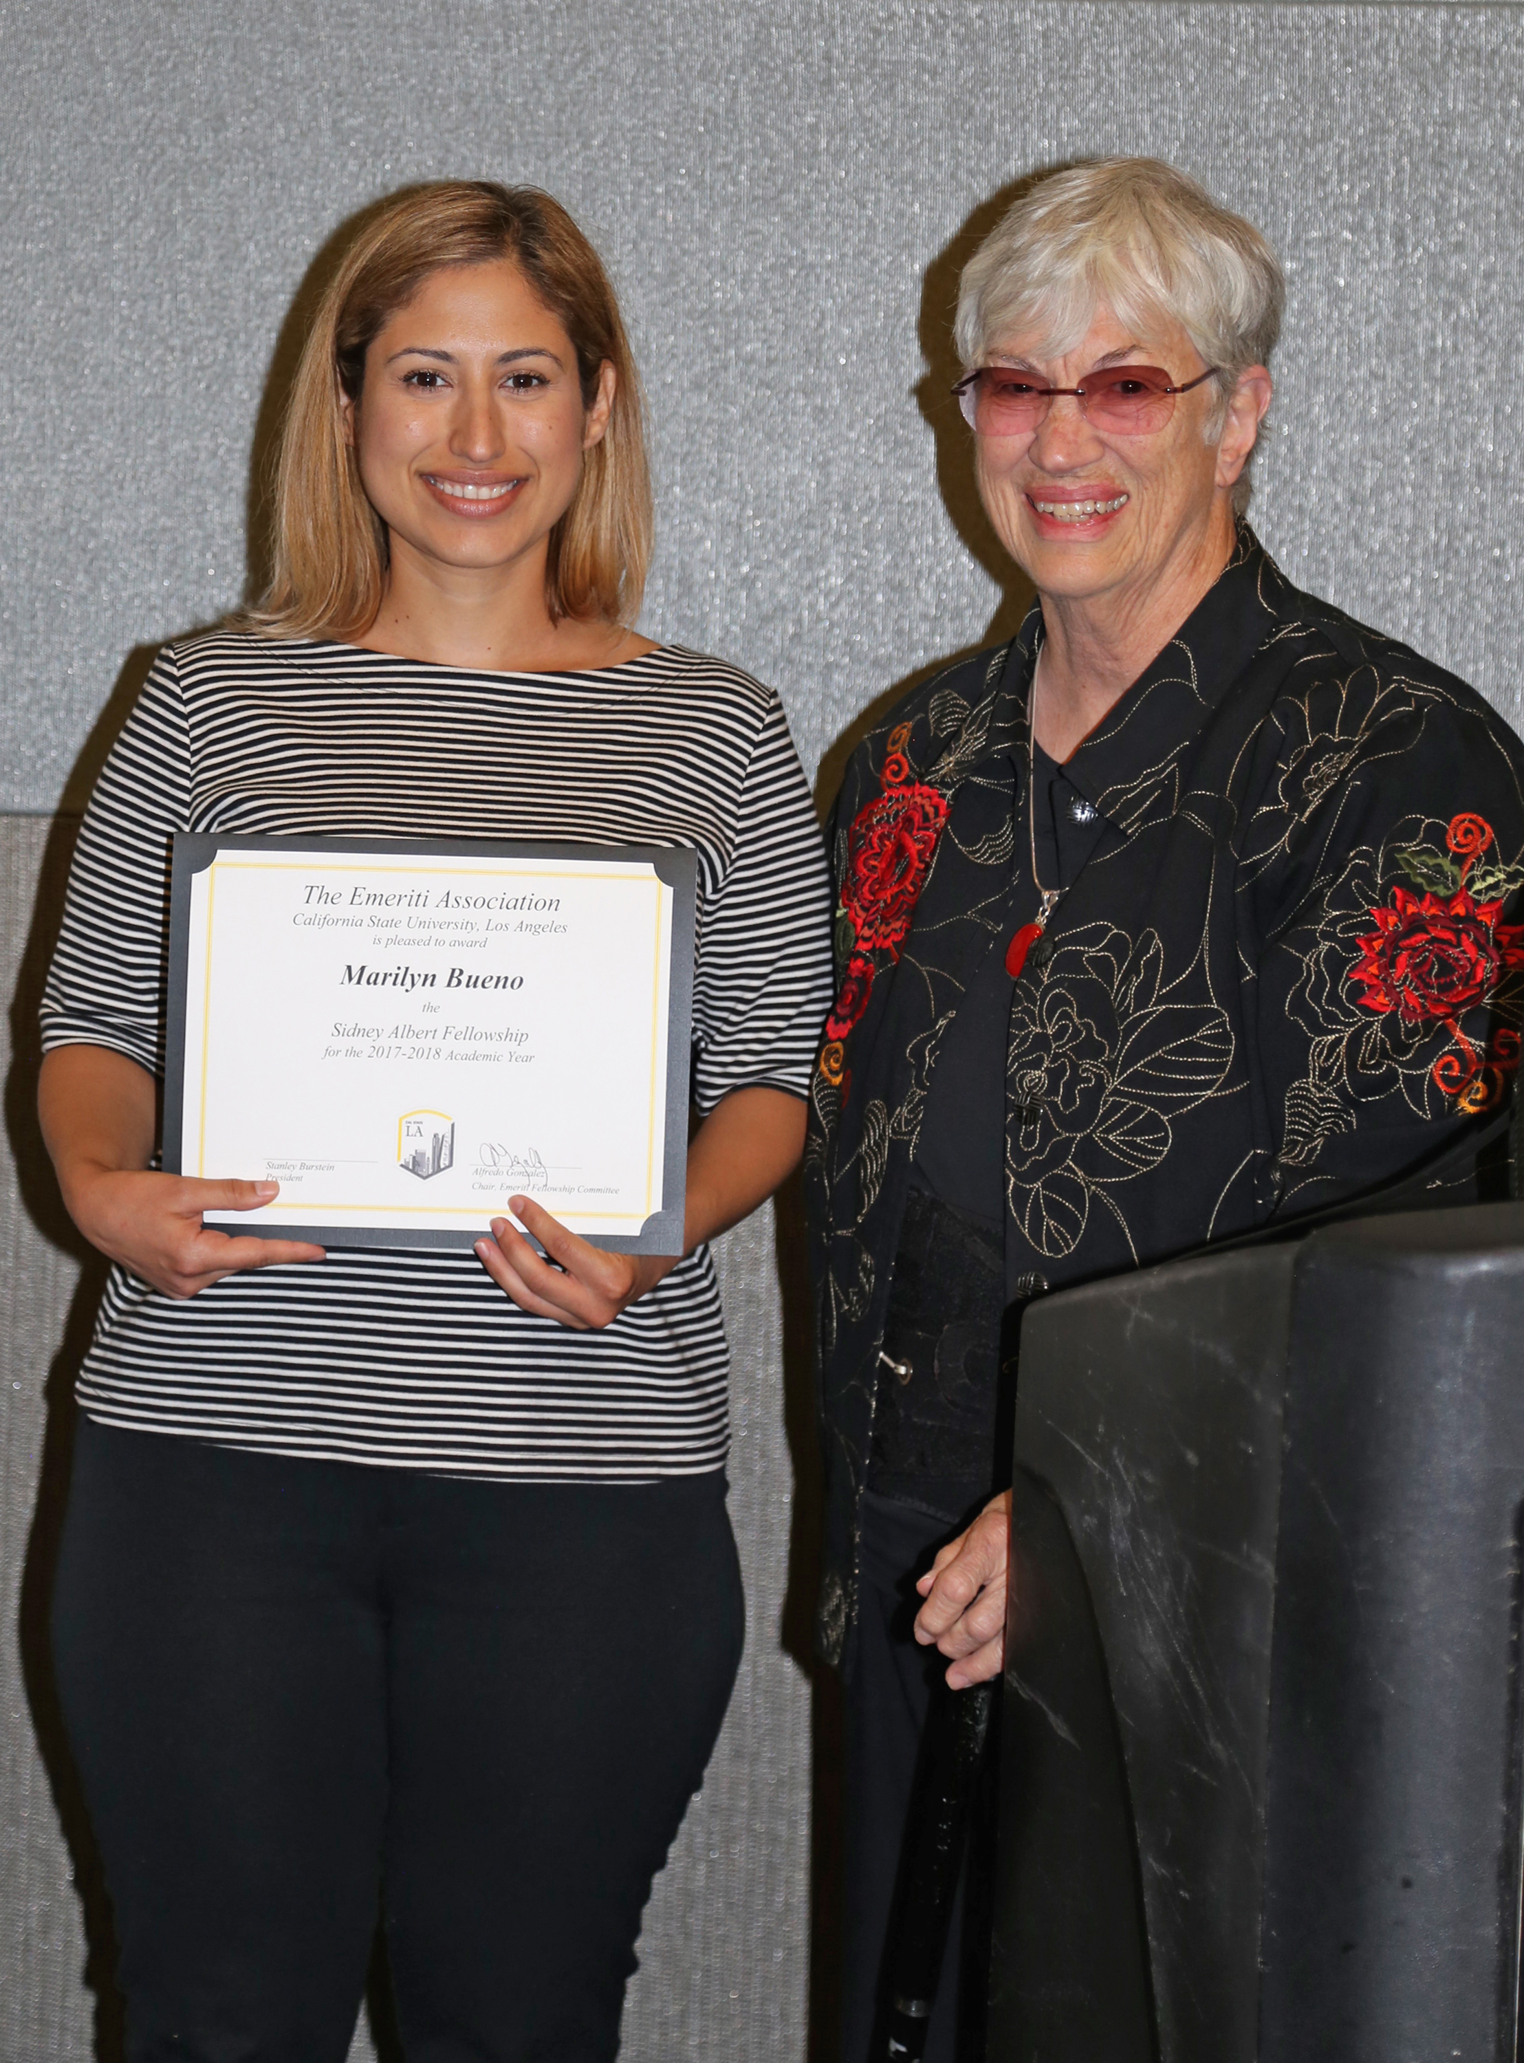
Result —
<instances>
[{"instance_id":1,"label":"smiling face of the older white-haired woman, around her tinted glasses","mask_svg":"<svg viewBox=\"0 0 1524 2063\"><path fill-rule=\"evenodd\" d=\"M1173 386L1206 371L1180 324L1126 326L1107 307L1064 357L1041 357L1033 340L1011 336L988 363L1021 367L1052 388L1074 388L1105 365L1159 365ZM984 507L1039 594L1105 609L1186 584L1206 565L1215 578L1233 545L1233 483L1268 406L1270 375L1254 367L1239 380L1223 435L1208 444L1221 386L1206 380L1178 394L1163 429L1145 435L1097 431L1068 396L1048 404L1035 431L975 439Z\"/></svg>"}]
</instances>

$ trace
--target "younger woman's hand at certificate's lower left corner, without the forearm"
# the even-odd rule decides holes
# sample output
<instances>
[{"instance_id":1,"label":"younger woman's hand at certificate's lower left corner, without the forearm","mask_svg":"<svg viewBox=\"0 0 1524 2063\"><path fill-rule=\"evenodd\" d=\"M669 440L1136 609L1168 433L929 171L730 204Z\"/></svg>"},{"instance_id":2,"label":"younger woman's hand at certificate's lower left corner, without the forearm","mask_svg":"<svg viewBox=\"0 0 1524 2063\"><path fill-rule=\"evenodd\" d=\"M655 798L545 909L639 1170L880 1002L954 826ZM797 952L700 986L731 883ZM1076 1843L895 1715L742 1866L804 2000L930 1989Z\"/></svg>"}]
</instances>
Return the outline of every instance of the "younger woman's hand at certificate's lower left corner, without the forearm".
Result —
<instances>
[{"instance_id":1,"label":"younger woman's hand at certificate's lower left corner, without the forearm","mask_svg":"<svg viewBox=\"0 0 1524 2063\"><path fill-rule=\"evenodd\" d=\"M241 1269L322 1260L322 1246L256 1240L202 1223L202 1211L258 1211L278 1182L198 1182L146 1170L74 1170L68 1215L91 1242L165 1296L186 1298Z\"/></svg>"}]
</instances>

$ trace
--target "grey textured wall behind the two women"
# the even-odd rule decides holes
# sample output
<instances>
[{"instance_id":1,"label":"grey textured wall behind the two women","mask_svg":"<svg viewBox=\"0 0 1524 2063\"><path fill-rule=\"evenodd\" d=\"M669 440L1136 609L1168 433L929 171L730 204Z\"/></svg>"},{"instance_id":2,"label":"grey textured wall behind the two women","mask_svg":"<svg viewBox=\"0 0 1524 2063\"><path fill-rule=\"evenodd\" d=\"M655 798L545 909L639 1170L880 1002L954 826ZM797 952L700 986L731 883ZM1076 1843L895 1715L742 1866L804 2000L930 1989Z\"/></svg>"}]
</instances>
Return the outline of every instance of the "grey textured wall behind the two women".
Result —
<instances>
[{"instance_id":1,"label":"grey textured wall behind the two women","mask_svg":"<svg viewBox=\"0 0 1524 2063\"><path fill-rule=\"evenodd\" d=\"M868 703L1021 607L945 396L959 262L1037 165L1169 157L1287 258L1266 543L1518 722L1522 76L1516 6L10 0L0 2063L91 2055L103 1941L37 1638L93 1279L29 1116L68 842L47 819L87 792L155 642L258 567L252 466L344 219L439 173L577 212L652 400L645 627L775 681L829 786ZM637 2063L806 2051L810 1434L777 1277L769 1217L726 1242L751 1648L648 1914ZM109 1999L103 2024L111 2053Z\"/></svg>"}]
</instances>

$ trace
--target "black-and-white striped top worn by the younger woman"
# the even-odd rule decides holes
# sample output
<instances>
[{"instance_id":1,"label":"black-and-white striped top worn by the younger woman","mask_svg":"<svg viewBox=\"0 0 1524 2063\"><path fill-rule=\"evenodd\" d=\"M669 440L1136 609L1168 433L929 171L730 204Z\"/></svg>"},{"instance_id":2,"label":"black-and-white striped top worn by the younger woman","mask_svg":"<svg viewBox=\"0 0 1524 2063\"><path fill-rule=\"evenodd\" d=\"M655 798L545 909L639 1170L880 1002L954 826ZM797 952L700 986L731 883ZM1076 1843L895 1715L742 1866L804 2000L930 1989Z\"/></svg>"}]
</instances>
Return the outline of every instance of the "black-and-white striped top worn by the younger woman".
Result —
<instances>
[{"instance_id":1,"label":"black-and-white striped top worn by the younger woman","mask_svg":"<svg viewBox=\"0 0 1524 2063\"><path fill-rule=\"evenodd\" d=\"M674 646L464 673L217 631L169 646L80 831L43 1044L161 1073L171 831L685 846L693 1098L804 1093L829 1005L821 836L777 695ZM503 1479L648 1481L726 1456L707 1248L602 1333L522 1312L472 1252L330 1250L190 1302L113 1269L78 1397L109 1426Z\"/></svg>"}]
</instances>

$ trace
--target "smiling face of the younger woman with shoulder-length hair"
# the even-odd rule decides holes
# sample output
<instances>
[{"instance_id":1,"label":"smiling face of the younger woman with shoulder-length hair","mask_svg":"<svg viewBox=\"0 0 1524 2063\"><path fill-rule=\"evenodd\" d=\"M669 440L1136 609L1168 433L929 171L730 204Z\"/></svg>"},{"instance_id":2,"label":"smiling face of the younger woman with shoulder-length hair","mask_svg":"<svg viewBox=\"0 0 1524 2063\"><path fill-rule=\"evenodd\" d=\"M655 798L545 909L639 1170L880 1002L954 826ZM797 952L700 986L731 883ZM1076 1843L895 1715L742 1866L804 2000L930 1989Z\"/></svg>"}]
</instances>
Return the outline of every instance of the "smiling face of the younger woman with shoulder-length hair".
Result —
<instances>
[{"instance_id":1,"label":"smiling face of the younger woman with shoulder-length hair","mask_svg":"<svg viewBox=\"0 0 1524 2063\"><path fill-rule=\"evenodd\" d=\"M431 272L371 340L349 437L392 563L450 578L544 567L615 369L584 408L559 318L509 258Z\"/></svg>"}]
</instances>

